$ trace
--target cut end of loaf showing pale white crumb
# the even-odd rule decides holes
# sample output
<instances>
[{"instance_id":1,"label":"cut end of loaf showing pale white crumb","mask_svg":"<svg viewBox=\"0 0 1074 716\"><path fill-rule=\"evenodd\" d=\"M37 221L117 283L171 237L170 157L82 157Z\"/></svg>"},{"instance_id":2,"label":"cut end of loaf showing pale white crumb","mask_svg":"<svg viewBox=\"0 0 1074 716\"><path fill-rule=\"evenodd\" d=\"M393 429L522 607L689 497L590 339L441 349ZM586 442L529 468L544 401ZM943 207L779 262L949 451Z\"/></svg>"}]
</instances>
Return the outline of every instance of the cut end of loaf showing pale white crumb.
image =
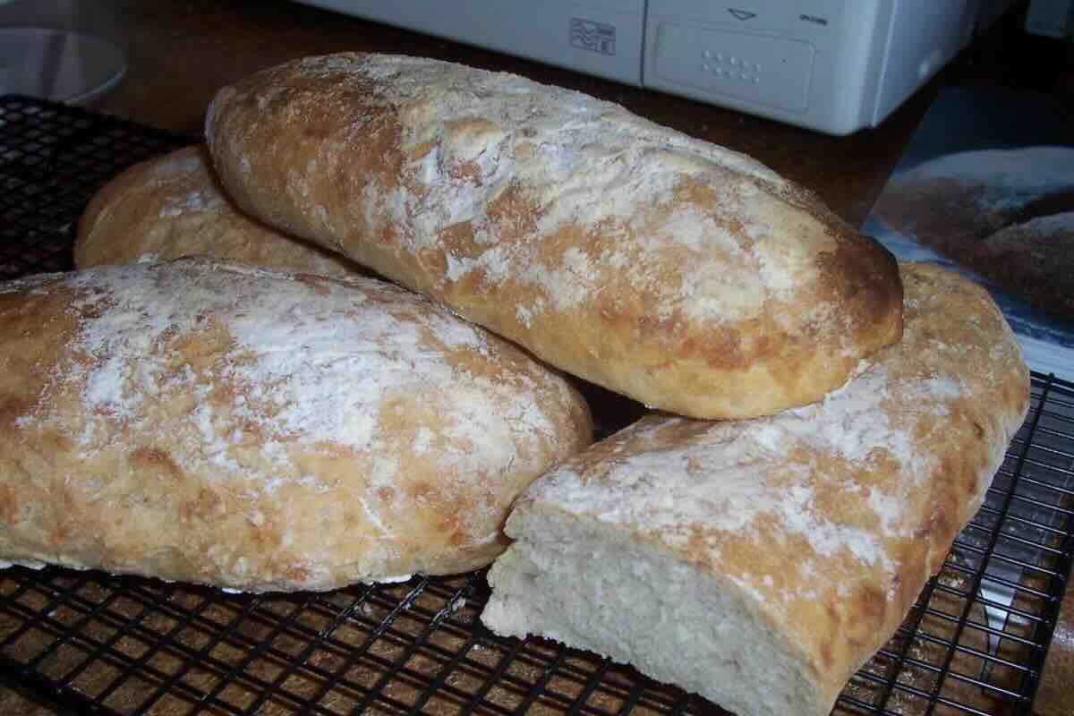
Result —
<instances>
[{"instance_id":1,"label":"cut end of loaf showing pale white crumb","mask_svg":"<svg viewBox=\"0 0 1074 716\"><path fill-rule=\"evenodd\" d=\"M726 579L628 534L554 509L517 511L517 541L493 565L481 620L636 666L740 716L817 714L819 693L795 649Z\"/></svg>"}]
</instances>

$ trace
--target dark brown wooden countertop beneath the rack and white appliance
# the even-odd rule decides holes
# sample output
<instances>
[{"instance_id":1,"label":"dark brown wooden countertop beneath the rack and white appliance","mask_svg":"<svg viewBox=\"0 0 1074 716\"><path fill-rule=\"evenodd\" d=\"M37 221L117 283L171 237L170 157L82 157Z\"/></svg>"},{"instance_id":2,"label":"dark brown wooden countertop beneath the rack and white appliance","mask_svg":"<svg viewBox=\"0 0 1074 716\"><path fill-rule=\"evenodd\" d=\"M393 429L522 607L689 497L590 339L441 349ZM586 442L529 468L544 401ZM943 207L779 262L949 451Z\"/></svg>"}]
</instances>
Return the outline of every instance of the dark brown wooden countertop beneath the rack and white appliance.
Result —
<instances>
[{"instance_id":1,"label":"dark brown wooden countertop beneath the rack and white appliance","mask_svg":"<svg viewBox=\"0 0 1074 716\"><path fill-rule=\"evenodd\" d=\"M192 140L201 136L213 94L250 72L303 55L340 50L422 55L514 72L619 102L662 125L751 155L814 190L854 225L868 214L937 90L978 70L956 63L881 127L833 137L286 0L105 0L96 6L102 9L99 17L105 18L98 20L104 25L97 29L116 35L126 45L130 68L120 86L93 108ZM1071 601L1069 596L1065 626L1057 634L1071 631ZM1070 642L1063 638L1055 645L1056 652L1066 651L1063 658L1049 659L1051 684L1069 683L1074 675L1074 645ZM1048 687L1041 696L1051 698ZM1050 703L1040 706L1042 714L1069 713L1055 710ZM0 711L52 713L2 687Z\"/></svg>"}]
</instances>

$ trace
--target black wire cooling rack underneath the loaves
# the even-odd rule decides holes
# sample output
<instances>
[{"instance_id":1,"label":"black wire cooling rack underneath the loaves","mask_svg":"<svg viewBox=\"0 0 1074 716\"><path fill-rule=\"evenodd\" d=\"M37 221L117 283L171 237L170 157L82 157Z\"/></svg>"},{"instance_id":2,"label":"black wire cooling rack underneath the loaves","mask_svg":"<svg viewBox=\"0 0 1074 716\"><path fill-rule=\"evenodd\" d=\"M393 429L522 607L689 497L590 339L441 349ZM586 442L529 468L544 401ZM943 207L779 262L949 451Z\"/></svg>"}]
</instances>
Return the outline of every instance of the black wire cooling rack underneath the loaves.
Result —
<instances>
[{"instance_id":1,"label":"black wire cooling rack underneath the loaves","mask_svg":"<svg viewBox=\"0 0 1074 716\"><path fill-rule=\"evenodd\" d=\"M0 98L0 280L69 269L92 193L187 142ZM1072 517L1074 384L1034 375L985 506L836 712L1029 714ZM57 713L102 715L725 713L592 654L497 638L478 619L487 596L481 572L251 596L12 567L0 571L0 684Z\"/></svg>"}]
</instances>

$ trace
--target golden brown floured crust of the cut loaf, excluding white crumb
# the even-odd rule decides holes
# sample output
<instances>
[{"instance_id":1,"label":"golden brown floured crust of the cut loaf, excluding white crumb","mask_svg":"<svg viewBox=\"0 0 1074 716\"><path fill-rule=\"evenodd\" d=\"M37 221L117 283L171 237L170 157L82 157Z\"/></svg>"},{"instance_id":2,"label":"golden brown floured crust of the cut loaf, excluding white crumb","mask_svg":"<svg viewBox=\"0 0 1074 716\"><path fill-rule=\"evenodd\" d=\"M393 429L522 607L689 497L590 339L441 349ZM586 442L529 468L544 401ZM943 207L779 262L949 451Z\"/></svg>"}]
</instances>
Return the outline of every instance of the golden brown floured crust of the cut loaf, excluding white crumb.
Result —
<instances>
[{"instance_id":1,"label":"golden brown floured crust of the cut loaf, excluding white crumb","mask_svg":"<svg viewBox=\"0 0 1074 716\"><path fill-rule=\"evenodd\" d=\"M644 418L531 485L508 534L539 541L527 515L556 511L693 565L786 640L818 695L802 713L828 713L940 569L1029 406L988 294L927 264L902 277L902 341L842 390L751 421Z\"/></svg>"}]
</instances>

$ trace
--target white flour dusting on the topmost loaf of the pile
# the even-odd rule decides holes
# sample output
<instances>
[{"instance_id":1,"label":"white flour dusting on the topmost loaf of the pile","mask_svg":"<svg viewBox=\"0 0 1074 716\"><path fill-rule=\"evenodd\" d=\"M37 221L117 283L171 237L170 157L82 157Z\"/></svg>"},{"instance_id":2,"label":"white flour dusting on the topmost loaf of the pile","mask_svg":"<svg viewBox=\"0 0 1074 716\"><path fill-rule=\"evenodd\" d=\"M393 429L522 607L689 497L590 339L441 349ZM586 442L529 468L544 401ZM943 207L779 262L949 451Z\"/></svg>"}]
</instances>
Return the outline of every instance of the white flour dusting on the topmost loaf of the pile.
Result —
<instances>
[{"instance_id":1,"label":"white flour dusting on the topmost loaf of the pile","mask_svg":"<svg viewBox=\"0 0 1074 716\"><path fill-rule=\"evenodd\" d=\"M797 190L749 157L615 104L509 74L402 56L334 55L297 67L310 77L339 79L338 92L318 98L322 104L343 101L349 83L362 77L384 83L366 101L398 107L409 159L390 185L383 176L363 176L352 210L374 235L396 232L401 253L445 251L434 294L475 274L493 286L536 289L513 309L529 325L546 310L584 304L612 275L645 292L661 319L684 308L692 320L725 321L757 316L766 299L785 299L792 286L813 278L786 252L785 231L768 223L768 211L750 208L780 204ZM340 111L355 115L355 126L364 119ZM333 142L323 156L345 156ZM715 191L713 211L677 196L695 179ZM500 236L523 219L518 209L496 213L508 194L532 205L523 215L535 221L532 239L511 242L510 249ZM306 216L317 215L310 198L292 199ZM662 206L663 213L651 210ZM731 229L714 220L719 216L748 218ZM460 225L473 234L463 251L442 240ZM553 248L565 227L600 236L599 255ZM816 227L796 230L802 231L824 236ZM334 228L335 235L349 233L344 223ZM629 245L619 246L620 238ZM658 280L671 262L681 280ZM725 265L715 272L715 263Z\"/></svg>"}]
</instances>

